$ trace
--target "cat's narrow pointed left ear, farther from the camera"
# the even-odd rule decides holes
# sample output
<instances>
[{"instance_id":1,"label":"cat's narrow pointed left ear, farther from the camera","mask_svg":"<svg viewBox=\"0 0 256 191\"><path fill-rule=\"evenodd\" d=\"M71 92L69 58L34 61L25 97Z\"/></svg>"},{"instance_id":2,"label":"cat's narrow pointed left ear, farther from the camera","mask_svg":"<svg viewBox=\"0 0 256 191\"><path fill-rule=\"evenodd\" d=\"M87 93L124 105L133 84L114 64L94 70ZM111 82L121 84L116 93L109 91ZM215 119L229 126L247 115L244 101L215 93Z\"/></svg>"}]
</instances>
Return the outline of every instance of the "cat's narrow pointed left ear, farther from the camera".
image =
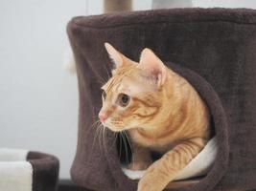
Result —
<instances>
[{"instance_id":1,"label":"cat's narrow pointed left ear, farther from the camera","mask_svg":"<svg viewBox=\"0 0 256 191\"><path fill-rule=\"evenodd\" d=\"M119 53L112 45L105 42L105 50L108 53L109 57L113 60L115 68L120 67L124 64L124 55Z\"/></svg>"}]
</instances>

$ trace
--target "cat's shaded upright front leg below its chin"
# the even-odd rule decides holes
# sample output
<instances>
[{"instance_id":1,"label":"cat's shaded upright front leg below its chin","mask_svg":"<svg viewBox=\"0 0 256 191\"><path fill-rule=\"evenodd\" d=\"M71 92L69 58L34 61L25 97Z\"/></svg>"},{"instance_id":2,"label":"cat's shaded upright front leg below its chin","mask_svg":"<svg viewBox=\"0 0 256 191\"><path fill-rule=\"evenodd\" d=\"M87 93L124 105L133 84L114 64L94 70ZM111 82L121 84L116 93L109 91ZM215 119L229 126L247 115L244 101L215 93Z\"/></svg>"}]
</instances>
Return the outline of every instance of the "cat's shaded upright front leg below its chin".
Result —
<instances>
[{"instance_id":1,"label":"cat's shaded upright front leg below its chin","mask_svg":"<svg viewBox=\"0 0 256 191\"><path fill-rule=\"evenodd\" d=\"M152 163L150 149L133 142L131 144L132 161L128 164L128 169L146 170Z\"/></svg>"}]
</instances>

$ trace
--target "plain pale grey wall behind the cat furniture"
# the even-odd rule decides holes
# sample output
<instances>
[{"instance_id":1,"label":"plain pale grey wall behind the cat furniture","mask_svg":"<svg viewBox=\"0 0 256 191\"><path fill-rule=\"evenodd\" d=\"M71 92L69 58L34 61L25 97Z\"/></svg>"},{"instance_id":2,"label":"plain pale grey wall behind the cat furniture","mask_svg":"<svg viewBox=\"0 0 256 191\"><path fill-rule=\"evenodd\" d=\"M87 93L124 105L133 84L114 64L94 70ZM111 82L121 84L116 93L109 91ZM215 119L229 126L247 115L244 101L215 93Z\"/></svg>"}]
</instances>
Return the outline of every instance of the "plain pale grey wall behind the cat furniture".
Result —
<instances>
[{"instance_id":1,"label":"plain pale grey wall behind the cat furniture","mask_svg":"<svg viewBox=\"0 0 256 191\"><path fill-rule=\"evenodd\" d=\"M67 22L76 15L161 8L249 8L255 0L0 0L0 147L56 155L69 179L76 152L78 89L69 58Z\"/></svg>"}]
</instances>

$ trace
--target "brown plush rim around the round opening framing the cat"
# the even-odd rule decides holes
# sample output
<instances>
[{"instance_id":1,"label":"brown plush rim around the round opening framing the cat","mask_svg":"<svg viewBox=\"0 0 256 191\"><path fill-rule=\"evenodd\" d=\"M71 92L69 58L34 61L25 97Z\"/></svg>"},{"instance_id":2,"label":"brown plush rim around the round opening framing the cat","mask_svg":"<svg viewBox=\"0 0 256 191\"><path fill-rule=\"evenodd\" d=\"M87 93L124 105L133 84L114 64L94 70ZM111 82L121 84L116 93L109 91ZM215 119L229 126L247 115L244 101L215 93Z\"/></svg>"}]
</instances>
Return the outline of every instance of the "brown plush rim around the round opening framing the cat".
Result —
<instances>
[{"instance_id":1,"label":"brown plush rim around the round opening framing the cat","mask_svg":"<svg viewBox=\"0 0 256 191\"><path fill-rule=\"evenodd\" d=\"M207 185L207 187L205 187L205 190L206 189L211 190L223 177L227 169L228 158L229 158L227 119L221 104L221 99L219 98L218 94L215 92L214 88L202 76L200 76L199 74L197 74L196 72L188 68L181 67L171 62L167 62L167 63L169 63L167 64L167 66L170 65L171 68L177 74L180 74L181 76L186 78L193 85L193 87L198 91L198 94L205 100L210 110L210 114L213 118L213 122L215 124L215 136L217 138L218 152L217 152L216 160L214 161L212 169L209 170L208 174L204 178L202 178L198 183L190 185L189 188L184 187L184 191L197 190L198 186L203 186L203 185L204 186ZM112 137L114 138L114 135L112 135ZM119 181L119 182L122 182L122 185L119 185L119 186L124 187L125 186L124 184L128 183L130 184L129 187L132 186L135 189L137 187L137 182L134 180L128 179L128 177L122 171L122 166L118 159L117 150L111 149L112 147L110 147L110 145L112 144L113 143L111 141L105 140L104 150L105 150L105 158L110 169L115 169L114 171L111 171L113 178L122 179L122 181ZM109 158L108 156L114 156L114 159ZM222 160L220 160L220 158L222 158ZM221 167L221 172L218 169L218 167ZM215 179L214 181L211 181L209 185L206 182L209 182L210 177L214 177ZM183 191L183 188L180 188L179 190Z\"/></svg>"}]
</instances>

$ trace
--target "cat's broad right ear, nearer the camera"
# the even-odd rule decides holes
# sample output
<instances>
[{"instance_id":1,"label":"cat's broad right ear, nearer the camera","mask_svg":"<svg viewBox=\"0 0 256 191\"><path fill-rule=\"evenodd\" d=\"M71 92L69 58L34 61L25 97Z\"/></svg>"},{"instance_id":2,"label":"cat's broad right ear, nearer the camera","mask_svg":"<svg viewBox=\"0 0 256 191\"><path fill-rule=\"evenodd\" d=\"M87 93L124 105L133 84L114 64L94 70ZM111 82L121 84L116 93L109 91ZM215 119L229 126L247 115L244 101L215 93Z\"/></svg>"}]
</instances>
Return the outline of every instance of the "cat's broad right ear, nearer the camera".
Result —
<instances>
[{"instance_id":1,"label":"cat's broad right ear, nearer the camera","mask_svg":"<svg viewBox=\"0 0 256 191\"><path fill-rule=\"evenodd\" d=\"M150 49L144 49L140 56L139 67L152 74L157 80L157 86L163 85L166 79L167 69L164 63Z\"/></svg>"}]
</instances>

